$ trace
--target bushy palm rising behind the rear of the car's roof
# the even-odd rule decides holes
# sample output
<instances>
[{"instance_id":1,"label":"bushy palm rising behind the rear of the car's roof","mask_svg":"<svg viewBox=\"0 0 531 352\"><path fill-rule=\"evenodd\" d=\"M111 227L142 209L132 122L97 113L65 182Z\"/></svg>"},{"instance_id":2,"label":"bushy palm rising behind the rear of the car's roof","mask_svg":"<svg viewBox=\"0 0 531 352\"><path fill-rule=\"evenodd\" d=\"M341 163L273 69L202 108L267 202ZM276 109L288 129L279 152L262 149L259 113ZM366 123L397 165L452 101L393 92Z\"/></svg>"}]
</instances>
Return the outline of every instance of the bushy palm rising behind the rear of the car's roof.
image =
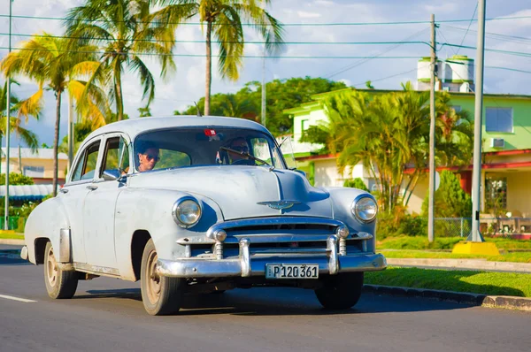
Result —
<instances>
[{"instance_id":1,"label":"bushy palm rising behind the rear of the car's roof","mask_svg":"<svg viewBox=\"0 0 531 352\"><path fill-rule=\"evenodd\" d=\"M96 81L106 83L116 103L118 120L124 117L122 74L126 69L139 74L142 99L147 97L148 107L155 97L155 80L142 61L142 55L158 58L162 65L161 77L175 69L172 50L176 25L161 17L160 11L150 12L156 3L158 1L87 0L85 5L69 11L66 17L66 34L73 37L71 48L92 44L103 51L100 65L87 87L93 87Z\"/></svg>"}]
</instances>

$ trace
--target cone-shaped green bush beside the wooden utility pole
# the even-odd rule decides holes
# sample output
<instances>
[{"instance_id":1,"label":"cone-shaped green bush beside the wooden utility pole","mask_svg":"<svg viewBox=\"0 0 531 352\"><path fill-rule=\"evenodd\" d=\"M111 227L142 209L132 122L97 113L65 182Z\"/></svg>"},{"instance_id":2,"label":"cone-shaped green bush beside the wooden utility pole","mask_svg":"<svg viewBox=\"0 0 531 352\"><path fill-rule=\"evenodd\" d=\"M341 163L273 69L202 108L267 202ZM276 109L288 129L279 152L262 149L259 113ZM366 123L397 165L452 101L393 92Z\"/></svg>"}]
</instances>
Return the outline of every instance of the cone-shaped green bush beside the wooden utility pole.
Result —
<instances>
[{"instance_id":1,"label":"cone-shaped green bush beside the wooden utility pole","mask_svg":"<svg viewBox=\"0 0 531 352\"><path fill-rule=\"evenodd\" d=\"M427 217L429 195L422 203L422 216ZM435 218L470 218L472 198L461 188L458 176L453 172L441 172L441 183L435 191Z\"/></svg>"}]
</instances>

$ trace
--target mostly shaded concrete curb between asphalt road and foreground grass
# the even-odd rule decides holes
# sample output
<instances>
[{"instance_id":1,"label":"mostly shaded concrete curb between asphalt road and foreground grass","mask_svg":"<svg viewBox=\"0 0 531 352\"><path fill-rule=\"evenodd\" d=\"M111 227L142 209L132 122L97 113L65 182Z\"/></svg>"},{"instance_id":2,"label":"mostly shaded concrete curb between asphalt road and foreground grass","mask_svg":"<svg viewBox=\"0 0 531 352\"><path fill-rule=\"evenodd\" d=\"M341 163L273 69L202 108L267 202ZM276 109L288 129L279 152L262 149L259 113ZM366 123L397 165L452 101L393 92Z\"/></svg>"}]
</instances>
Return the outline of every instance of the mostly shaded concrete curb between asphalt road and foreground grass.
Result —
<instances>
[{"instance_id":1,"label":"mostly shaded concrete curb between asphalt road and foreground grass","mask_svg":"<svg viewBox=\"0 0 531 352\"><path fill-rule=\"evenodd\" d=\"M531 311L531 298L509 295L480 295L466 292L432 290L427 288L364 285L364 292L378 295L402 295L424 297L439 301L472 304L488 308Z\"/></svg>"}]
</instances>

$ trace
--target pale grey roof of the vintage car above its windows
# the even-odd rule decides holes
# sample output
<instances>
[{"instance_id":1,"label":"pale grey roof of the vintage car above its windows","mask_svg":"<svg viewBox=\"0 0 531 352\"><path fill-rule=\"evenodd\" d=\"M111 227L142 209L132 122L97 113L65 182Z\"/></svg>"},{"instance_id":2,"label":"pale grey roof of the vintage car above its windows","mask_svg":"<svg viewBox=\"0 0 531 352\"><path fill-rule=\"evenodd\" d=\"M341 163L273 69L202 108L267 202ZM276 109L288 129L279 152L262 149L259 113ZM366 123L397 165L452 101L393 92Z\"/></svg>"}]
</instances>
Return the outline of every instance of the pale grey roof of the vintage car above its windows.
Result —
<instances>
[{"instance_id":1,"label":"pale grey roof of the vintage car above its windows","mask_svg":"<svg viewBox=\"0 0 531 352\"><path fill-rule=\"evenodd\" d=\"M101 134L111 134L115 132L122 132L134 140L138 134L150 130L158 130L163 128L172 127L240 127L259 130L270 134L266 127L249 119L236 119L225 118L219 116L194 116L194 115L177 115L166 117L149 117L149 118L134 118L126 119L119 122L113 122L111 124L102 126L96 131L89 134L85 141L89 141L91 138Z\"/></svg>"}]
</instances>

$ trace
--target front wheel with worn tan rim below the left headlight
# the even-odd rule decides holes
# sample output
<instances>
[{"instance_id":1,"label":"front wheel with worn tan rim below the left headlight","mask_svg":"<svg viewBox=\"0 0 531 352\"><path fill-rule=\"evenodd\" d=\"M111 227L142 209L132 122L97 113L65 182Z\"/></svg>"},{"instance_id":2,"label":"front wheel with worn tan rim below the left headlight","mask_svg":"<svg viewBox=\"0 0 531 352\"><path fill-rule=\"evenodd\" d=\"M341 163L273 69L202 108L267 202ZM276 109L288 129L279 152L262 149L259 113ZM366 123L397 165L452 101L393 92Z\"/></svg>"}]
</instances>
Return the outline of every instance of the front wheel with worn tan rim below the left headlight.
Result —
<instances>
[{"instance_id":1,"label":"front wheel with worn tan rim below the left headlight","mask_svg":"<svg viewBox=\"0 0 531 352\"><path fill-rule=\"evenodd\" d=\"M152 316L172 314L181 308L182 291L186 282L157 273L157 250L153 240L146 243L142 254L141 291L145 310Z\"/></svg>"}]
</instances>

